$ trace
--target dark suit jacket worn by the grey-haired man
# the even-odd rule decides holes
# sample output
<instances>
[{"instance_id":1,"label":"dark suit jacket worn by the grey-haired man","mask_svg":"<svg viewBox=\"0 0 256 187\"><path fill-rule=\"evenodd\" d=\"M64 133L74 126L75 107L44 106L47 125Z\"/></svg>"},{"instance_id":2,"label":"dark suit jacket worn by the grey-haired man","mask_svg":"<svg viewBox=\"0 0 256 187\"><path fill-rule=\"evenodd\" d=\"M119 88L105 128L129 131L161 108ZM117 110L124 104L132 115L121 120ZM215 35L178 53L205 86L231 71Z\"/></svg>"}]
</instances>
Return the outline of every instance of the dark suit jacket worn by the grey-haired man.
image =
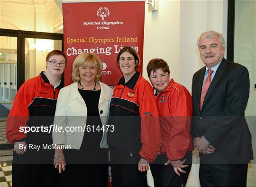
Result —
<instances>
[{"instance_id":1,"label":"dark suit jacket worn by the grey-haired man","mask_svg":"<svg viewBox=\"0 0 256 187\"><path fill-rule=\"evenodd\" d=\"M204 136L216 147L212 154L200 153L201 163L237 164L253 160L251 133L244 111L249 97L246 67L222 59L199 109L205 69L198 70L192 81L192 136Z\"/></svg>"}]
</instances>

